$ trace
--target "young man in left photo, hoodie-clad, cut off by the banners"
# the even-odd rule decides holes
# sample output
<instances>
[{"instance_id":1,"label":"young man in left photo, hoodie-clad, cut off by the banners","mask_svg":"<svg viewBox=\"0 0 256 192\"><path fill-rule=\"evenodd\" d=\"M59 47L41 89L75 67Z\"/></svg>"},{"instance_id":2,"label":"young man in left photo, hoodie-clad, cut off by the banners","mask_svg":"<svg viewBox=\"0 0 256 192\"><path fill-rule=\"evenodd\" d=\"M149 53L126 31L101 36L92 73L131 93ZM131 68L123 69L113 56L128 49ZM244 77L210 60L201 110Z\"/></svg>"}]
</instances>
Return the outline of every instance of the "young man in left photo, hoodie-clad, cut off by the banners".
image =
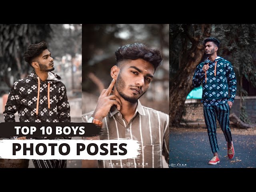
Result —
<instances>
[{"instance_id":1,"label":"young man in left photo, hoodie-clad, cut off by the banners","mask_svg":"<svg viewBox=\"0 0 256 192\"><path fill-rule=\"evenodd\" d=\"M15 122L17 111L20 122L70 122L66 87L60 76L51 72L54 62L46 43L30 45L24 59L34 70L28 77L16 81L10 90L5 122ZM35 168L66 168L66 160L33 160L33 163Z\"/></svg>"}]
</instances>

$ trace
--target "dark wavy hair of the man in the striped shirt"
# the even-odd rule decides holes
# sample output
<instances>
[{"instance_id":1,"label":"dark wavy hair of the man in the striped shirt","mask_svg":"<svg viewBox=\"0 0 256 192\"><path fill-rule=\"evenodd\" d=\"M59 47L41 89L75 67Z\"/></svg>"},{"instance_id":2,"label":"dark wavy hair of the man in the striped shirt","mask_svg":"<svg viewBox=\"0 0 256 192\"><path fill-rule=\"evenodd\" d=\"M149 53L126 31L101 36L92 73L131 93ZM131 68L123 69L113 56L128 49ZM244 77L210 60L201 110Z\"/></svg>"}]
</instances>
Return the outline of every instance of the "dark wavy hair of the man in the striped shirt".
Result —
<instances>
[{"instance_id":1,"label":"dark wavy hair of the man in the striped shirt","mask_svg":"<svg viewBox=\"0 0 256 192\"><path fill-rule=\"evenodd\" d=\"M143 59L154 65L154 69L160 66L162 55L159 50L152 49L142 43L127 44L119 47L116 52L117 66L124 60Z\"/></svg>"}]
</instances>

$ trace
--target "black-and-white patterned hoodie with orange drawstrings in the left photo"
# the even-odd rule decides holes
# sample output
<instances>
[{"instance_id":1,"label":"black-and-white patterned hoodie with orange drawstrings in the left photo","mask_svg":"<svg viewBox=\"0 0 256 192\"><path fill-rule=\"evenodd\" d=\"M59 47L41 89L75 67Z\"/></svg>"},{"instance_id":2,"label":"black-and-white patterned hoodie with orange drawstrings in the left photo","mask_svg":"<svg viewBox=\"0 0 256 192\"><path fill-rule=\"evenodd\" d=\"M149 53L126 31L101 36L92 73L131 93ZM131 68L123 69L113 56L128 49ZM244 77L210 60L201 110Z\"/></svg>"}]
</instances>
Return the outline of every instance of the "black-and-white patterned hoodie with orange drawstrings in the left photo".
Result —
<instances>
[{"instance_id":1,"label":"black-and-white patterned hoodie with orange drawstrings in the left photo","mask_svg":"<svg viewBox=\"0 0 256 192\"><path fill-rule=\"evenodd\" d=\"M70 122L66 87L60 80L60 76L48 72L43 82L33 70L16 81L8 96L4 121L15 122L18 111L20 122Z\"/></svg>"}]
</instances>

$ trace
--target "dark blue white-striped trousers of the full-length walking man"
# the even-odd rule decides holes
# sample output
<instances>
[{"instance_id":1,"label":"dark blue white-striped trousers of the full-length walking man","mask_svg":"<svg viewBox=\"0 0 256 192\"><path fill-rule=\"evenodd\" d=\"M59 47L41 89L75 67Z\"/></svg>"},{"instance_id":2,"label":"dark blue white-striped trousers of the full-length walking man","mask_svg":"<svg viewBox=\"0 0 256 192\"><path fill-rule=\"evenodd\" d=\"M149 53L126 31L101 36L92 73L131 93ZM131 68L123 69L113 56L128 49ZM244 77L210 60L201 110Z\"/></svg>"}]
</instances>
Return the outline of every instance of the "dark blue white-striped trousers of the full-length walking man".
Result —
<instances>
[{"instance_id":1,"label":"dark blue white-striped trousers of the full-length walking man","mask_svg":"<svg viewBox=\"0 0 256 192\"><path fill-rule=\"evenodd\" d=\"M204 106L204 120L206 123L212 153L218 152L219 147L216 137L216 117L220 124L227 142L232 142L231 131L229 127L229 111L227 103L216 106Z\"/></svg>"}]
</instances>

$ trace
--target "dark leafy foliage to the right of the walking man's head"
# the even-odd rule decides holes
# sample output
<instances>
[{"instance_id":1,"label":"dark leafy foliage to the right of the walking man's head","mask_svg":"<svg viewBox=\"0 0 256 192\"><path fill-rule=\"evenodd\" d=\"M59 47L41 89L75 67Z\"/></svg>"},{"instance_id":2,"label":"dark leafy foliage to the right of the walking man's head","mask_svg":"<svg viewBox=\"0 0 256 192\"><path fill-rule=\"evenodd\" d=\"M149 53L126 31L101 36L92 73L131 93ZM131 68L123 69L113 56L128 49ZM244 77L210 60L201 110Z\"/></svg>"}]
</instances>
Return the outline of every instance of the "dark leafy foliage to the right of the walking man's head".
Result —
<instances>
[{"instance_id":1,"label":"dark leafy foliage to the right of the walking man's head","mask_svg":"<svg viewBox=\"0 0 256 192\"><path fill-rule=\"evenodd\" d=\"M212 36L220 40L218 55L232 63L236 78L244 76L256 88L256 25L215 24Z\"/></svg>"}]
</instances>

